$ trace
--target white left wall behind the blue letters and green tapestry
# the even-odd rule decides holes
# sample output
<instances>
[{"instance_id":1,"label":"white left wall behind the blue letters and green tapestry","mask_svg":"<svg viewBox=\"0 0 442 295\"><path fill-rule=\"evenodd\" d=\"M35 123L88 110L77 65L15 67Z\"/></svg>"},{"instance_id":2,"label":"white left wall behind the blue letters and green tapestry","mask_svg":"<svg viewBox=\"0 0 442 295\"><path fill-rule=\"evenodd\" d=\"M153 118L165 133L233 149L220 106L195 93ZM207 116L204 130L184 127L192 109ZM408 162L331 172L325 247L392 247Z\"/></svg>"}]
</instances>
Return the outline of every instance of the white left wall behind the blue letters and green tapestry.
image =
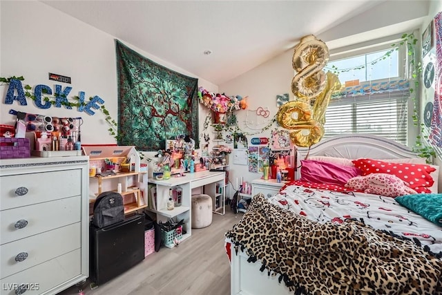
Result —
<instances>
[{"instance_id":1,"label":"white left wall behind the blue letters and green tapestry","mask_svg":"<svg viewBox=\"0 0 442 295\"><path fill-rule=\"evenodd\" d=\"M59 10L37 1L0 1L0 77L23 76L23 84L44 84L52 91L55 84L72 86L70 95L79 91L88 97L98 95L117 120L117 67L115 60L115 37L89 26ZM124 40L120 40L124 42ZM126 44L138 53L184 75L195 77L182 68L149 55ZM66 75L72 84L48 79L48 73ZM209 91L218 91L218 86L204 79L199 84ZM108 132L104 115L97 110L95 115L79 113L76 108L64 106L41 109L28 99L27 106L17 101L5 104L7 85L0 86L0 124L14 124L15 116L8 115L10 108L25 113L37 113L57 117L82 117L81 142L84 144L113 144L115 139ZM200 106L200 119L208 113ZM202 125L202 122L200 122Z\"/></svg>"}]
</instances>

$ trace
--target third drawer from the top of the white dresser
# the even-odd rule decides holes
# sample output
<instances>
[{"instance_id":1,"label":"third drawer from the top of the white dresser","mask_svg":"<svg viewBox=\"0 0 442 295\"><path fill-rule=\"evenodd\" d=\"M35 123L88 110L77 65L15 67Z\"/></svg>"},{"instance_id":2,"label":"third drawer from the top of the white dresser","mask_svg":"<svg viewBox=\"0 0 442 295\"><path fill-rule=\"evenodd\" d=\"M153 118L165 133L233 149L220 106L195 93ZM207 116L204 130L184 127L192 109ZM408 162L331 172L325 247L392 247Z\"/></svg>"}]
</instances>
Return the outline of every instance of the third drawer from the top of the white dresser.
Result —
<instances>
[{"instance_id":1,"label":"third drawer from the top of the white dresser","mask_svg":"<svg viewBox=\"0 0 442 295\"><path fill-rule=\"evenodd\" d=\"M1 278L17 274L17 272L24 269L79 249L81 247L80 232L81 223L77 222L73 225L1 245ZM27 257L22 261L17 261L20 254L25 254Z\"/></svg>"}]
</instances>

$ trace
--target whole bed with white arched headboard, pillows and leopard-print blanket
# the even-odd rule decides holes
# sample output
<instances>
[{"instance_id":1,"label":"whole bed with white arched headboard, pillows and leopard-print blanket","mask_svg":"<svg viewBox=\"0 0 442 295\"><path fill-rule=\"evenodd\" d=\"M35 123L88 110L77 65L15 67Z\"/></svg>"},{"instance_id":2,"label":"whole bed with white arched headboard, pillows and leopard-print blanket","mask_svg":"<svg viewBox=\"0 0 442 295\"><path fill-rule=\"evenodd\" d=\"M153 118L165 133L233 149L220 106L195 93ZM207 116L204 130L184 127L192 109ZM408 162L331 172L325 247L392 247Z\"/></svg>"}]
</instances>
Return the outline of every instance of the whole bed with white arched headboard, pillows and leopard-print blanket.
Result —
<instances>
[{"instance_id":1,"label":"whole bed with white arched headboard, pillows and leopard-print blanket","mask_svg":"<svg viewBox=\"0 0 442 295\"><path fill-rule=\"evenodd\" d=\"M315 293L312 290L325 285L323 290L329 292L331 286L325 284L327 282L323 278L334 279L336 276L322 276L321 272L327 270L322 262L314 271L308 274L306 271L311 270L312 261L316 258L328 257L325 255L324 247L332 247L342 238L340 234L332 238L332 229L340 230L354 222L366 227L364 230L371 228L385 234L383 238L394 237L390 240L394 243L391 249L396 247L396 243L397 245L405 243L412 249L423 249L426 254L439 260L440 263L442 194L438 193L438 166L425 164L425 159L416 158L410 149L392 140L376 135L358 134L329 138L308 149L298 148L297 159L296 180L287 183L279 193L270 198L265 198L258 191L251 202L251 210L244 213L238 225L226 235L226 249L231 258L231 294L287 295L294 294L294 289L298 292L296 294L327 294L327 292ZM408 198L410 204L425 203L429 206L423 209L413 208L415 209L413 211L405 206L407 202L399 202L402 198ZM432 206L432 200L435 201L435 206ZM280 218L281 216L287 218ZM259 223L257 220L262 221L259 227L256 226ZM289 223L290 220L294 223ZM325 228L330 228L331 231ZM267 237L270 229L278 229L271 238ZM259 234L262 234L262 240L259 239ZM305 262L304 267L299 268L296 264L282 262L281 267L287 269L288 265L292 265L295 269L289 269L287 272L275 270L267 272L266 270L271 267L267 258L272 255L275 258L281 257L280 251L285 249L283 240L287 242L287 237L297 239L300 245L305 247L311 245L311 241L315 238L322 240L320 244L312 244L311 253L314 253L314 256L301 259ZM278 239L282 239L282 242ZM229 245L231 247L227 247ZM352 245L349 243L347 246L352 247ZM374 242L374 245L366 249L387 249L380 246L385 245L383 242ZM257 247L263 247L262 251L257 251ZM291 251L289 257L296 258L299 255L302 257L299 251L303 251L305 247L297 246L289 249ZM345 245L340 245L338 252L346 252ZM384 251L383 254L392 254L392 252L394 251ZM367 258L380 257L376 255L369 255ZM356 258L352 257L350 262ZM399 270L403 263L410 262L407 259L399 257L397 265L391 260L392 265L398 268L392 272L391 280L388 282L410 281L405 277L401 279L403 272ZM412 263L410 269L417 263L419 262ZM376 265L378 264L365 266L358 274L374 271ZM432 270L434 269L422 272L421 279L427 278ZM287 279L298 273L296 279ZM413 274L419 272L413 271ZM440 273L438 277L440 280ZM311 288L307 287L308 282L305 282L307 278L316 280ZM376 278L375 282L380 281L379 277L372 278ZM348 285L339 282L340 280L338 287ZM360 284L356 286L361 287ZM405 294L398 289L392 289L392 285L388 284L381 289L382 292L362 292L358 289L352 294ZM343 291L328 294L350 293ZM410 294L434 294L434 292L426 289L425 292ZM442 292L439 289L435 294Z\"/></svg>"}]
</instances>

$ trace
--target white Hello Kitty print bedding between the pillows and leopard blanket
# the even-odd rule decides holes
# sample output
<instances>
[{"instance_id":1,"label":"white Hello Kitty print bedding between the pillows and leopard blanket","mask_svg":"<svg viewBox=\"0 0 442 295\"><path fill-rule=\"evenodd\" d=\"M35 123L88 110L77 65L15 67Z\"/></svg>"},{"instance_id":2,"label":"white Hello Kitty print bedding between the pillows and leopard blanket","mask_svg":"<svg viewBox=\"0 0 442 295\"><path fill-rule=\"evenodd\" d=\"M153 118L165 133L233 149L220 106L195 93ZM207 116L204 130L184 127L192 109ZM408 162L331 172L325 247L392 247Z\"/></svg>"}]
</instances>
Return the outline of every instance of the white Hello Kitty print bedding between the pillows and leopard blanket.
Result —
<instances>
[{"instance_id":1,"label":"white Hello Kitty print bedding between the pillows and leopard blanket","mask_svg":"<svg viewBox=\"0 0 442 295\"><path fill-rule=\"evenodd\" d=\"M374 229L427 245L433 253L442 251L442 227L401 206L394 198L289 185L269 202L318 222L343 223L346 218L354 218Z\"/></svg>"}]
</instances>

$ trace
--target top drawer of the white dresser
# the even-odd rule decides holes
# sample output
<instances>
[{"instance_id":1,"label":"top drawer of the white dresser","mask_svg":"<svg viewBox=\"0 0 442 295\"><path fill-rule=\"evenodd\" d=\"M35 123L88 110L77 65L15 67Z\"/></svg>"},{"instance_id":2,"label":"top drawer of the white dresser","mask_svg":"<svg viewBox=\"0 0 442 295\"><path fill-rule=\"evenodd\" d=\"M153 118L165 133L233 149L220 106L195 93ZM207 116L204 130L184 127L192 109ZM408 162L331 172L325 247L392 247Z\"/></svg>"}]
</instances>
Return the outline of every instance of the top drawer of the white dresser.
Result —
<instances>
[{"instance_id":1,"label":"top drawer of the white dresser","mask_svg":"<svg viewBox=\"0 0 442 295\"><path fill-rule=\"evenodd\" d=\"M1 176L0 187L0 210L79 196L81 195L81 170Z\"/></svg>"}]
</instances>

